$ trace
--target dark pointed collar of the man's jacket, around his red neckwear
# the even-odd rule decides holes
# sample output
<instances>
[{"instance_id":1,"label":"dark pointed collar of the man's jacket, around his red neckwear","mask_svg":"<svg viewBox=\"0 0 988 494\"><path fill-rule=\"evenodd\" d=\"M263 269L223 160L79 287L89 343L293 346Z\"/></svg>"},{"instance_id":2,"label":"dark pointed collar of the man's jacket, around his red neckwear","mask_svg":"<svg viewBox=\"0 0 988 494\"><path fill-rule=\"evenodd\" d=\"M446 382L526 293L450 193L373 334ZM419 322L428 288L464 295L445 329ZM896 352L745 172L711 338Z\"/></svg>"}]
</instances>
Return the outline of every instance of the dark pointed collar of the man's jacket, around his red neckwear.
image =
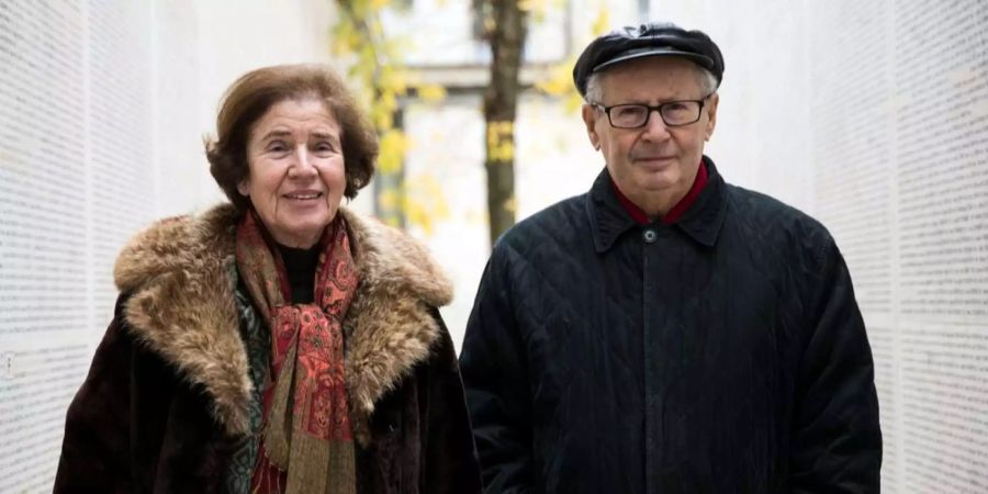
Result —
<instances>
[{"instance_id":1,"label":"dark pointed collar of the man's jacket, around his red neckwear","mask_svg":"<svg viewBox=\"0 0 988 494\"><path fill-rule=\"evenodd\" d=\"M704 156L704 164L707 166L707 186L696 202L672 225L652 222L651 227L680 228L694 242L712 247L717 244L727 213L726 186L714 160ZM600 171L587 193L586 212L593 225L594 246L597 252L609 250L618 237L629 229L639 227L611 190L607 168Z\"/></svg>"}]
</instances>

